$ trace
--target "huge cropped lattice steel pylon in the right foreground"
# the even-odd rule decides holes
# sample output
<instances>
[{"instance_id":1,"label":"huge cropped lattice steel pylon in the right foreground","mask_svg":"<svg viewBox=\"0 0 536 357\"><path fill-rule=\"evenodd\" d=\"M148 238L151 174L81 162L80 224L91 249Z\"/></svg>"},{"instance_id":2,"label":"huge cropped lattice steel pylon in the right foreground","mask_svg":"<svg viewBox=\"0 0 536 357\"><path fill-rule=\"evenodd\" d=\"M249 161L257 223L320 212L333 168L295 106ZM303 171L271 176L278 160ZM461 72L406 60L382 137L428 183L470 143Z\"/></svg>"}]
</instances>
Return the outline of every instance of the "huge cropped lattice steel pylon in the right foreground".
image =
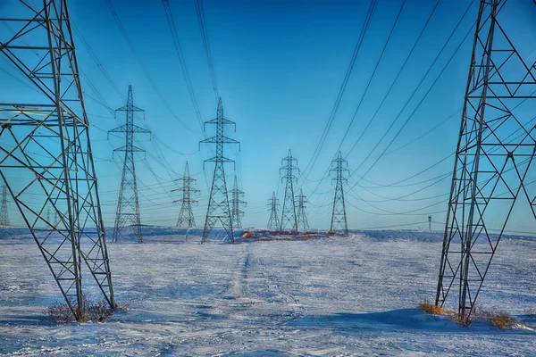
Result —
<instances>
[{"instance_id":1,"label":"huge cropped lattice steel pylon in the right foreground","mask_svg":"<svg viewBox=\"0 0 536 357\"><path fill-rule=\"evenodd\" d=\"M482 0L479 8L436 291L436 305L455 297L467 319L519 195L536 218L525 187L535 150L532 113L514 111L535 104L536 68L501 24L506 3Z\"/></svg>"}]
</instances>

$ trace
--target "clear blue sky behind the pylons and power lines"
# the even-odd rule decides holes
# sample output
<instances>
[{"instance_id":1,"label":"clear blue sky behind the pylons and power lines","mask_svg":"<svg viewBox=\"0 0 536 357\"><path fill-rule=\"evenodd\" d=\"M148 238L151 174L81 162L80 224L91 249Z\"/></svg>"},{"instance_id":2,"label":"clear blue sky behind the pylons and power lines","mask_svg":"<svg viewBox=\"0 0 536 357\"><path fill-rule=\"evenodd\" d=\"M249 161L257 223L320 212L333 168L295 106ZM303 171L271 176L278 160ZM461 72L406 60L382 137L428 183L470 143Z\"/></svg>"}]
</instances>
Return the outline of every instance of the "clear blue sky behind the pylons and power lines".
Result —
<instances>
[{"instance_id":1,"label":"clear blue sky behind the pylons and power lines","mask_svg":"<svg viewBox=\"0 0 536 357\"><path fill-rule=\"evenodd\" d=\"M10 1L0 0L0 12L3 6L9 7ZM180 195L171 192L176 188L173 180L180 178L188 161L201 190L194 207L197 225L201 226L214 166L207 164L203 170L202 162L211 154L206 145L198 150L197 143L204 137L163 3L111 3L136 54L105 0L69 2L86 108L93 125L91 137L105 224L113 225L121 183L122 157L113 156L113 148L124 145L121 137L108 139L106 132L124 120L113 119L111 110L125 104L124 97L132 85L134 104L146 110L146 119L137 118L136 124L154 133L152 139L137 137L137 145L147 150L147 155L138 155L136 163L141 221L167 226L176 223L180 206L172 200ZM194 1L169 3L201 117L213 119L216 101ZM426 221L429 214L432 220L443 222L478 3L440 1L415 51L381 104L436 1L380 0L322 150L306 170L330 118L364 26L369 1L205 0L217 87L225 116L237 123L236 132L229 129L226 133L241 142L241 151L232 146L225 150L237 161L236 170L232 165L226 167L229 186L236 174L246 193L243 225L265 227L269 218L267 200L272 191L282 201L279 168L290 149L302 173L306 171L306 175L299 176L297 188L307 196L309 224L312 228L329 228L334 187L326 170L339 145L348 168L356 170L348 179L346 195L349 228L404 224L410 224L404 228L426 228L427 224L419 222ZM520 53L533 61L534 6L528 0L510 3L507 18L512 21L507 25L517 26L510 35ZM447 42L458 21L459 26ZM4 72L0 76L0 91L6 91L6 84L14 79ZM105 103L99 97L105 98ZM355 112L355 120L349 126ZM372 124L364 132L371 118ZM406 126L381 155L406 120ZM393 121L393 127L380 141ZM206 135L213 136L214 128L208 126ZM510 228L533 229L528 206L518 212ZM442 227L434 223L433 228Z\"/></svg>"}]
</instances>

